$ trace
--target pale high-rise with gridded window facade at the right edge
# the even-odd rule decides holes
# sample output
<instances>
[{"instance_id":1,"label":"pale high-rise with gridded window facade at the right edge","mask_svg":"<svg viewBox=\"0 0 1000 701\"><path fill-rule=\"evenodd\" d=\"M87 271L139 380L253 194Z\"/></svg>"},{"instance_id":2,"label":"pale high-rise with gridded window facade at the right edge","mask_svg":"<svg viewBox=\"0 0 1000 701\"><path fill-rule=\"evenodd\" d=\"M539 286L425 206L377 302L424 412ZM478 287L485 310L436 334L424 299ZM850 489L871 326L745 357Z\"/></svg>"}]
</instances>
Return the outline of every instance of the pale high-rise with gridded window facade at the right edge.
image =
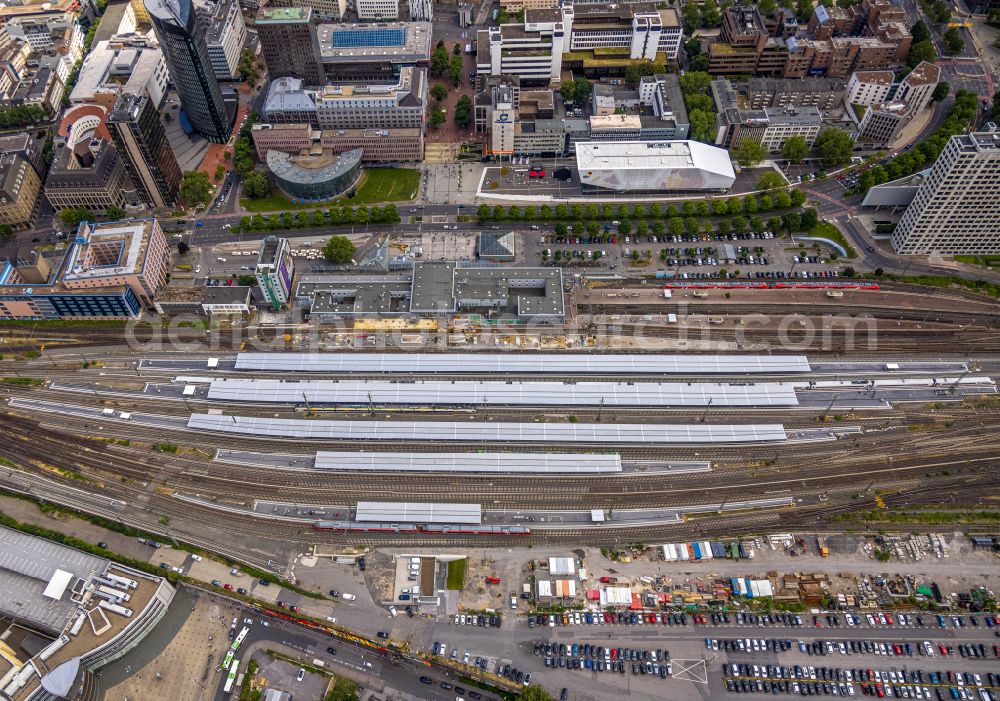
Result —
<instances>
[{"instance_id":1,"label":"pale high-rise with gridded window facade at the right edge","mask_svg":"<svg viewBox=\"0 0 1000 701\"><path fill-rule=\"evenodd\" d=\"M992 126L992 125L990 125ZM1000 253L1000 131L948 140L892 234L897 253Z\"/></svg>"}]
</instances>

